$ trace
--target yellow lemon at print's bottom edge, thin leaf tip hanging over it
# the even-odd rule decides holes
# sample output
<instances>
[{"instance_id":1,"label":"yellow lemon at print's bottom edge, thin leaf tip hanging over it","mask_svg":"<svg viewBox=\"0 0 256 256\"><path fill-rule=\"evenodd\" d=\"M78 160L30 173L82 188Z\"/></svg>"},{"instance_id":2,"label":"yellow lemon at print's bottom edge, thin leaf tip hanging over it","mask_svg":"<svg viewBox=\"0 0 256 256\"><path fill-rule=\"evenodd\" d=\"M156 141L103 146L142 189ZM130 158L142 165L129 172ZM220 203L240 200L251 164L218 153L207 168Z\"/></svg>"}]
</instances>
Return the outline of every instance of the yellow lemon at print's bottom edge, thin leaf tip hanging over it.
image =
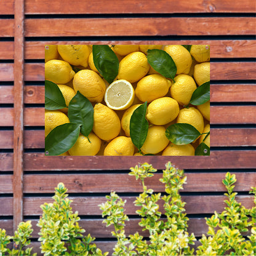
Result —
<instances>
[{"instance_id":1,"label":"yellow lemon at print's bottom edge, thin leaf tip hanging over it","mask_svg":"<svg viewBox=\"0 0 256 256\"><path fill-rule=\"evenodd\" d=\"M76 143L68 150L68 153L70 153L71 156L95 156L100 150L102 141L93 132L90 132L88 138L79 134L78 140L76 140Z\"/></svg>"}]
</instances>

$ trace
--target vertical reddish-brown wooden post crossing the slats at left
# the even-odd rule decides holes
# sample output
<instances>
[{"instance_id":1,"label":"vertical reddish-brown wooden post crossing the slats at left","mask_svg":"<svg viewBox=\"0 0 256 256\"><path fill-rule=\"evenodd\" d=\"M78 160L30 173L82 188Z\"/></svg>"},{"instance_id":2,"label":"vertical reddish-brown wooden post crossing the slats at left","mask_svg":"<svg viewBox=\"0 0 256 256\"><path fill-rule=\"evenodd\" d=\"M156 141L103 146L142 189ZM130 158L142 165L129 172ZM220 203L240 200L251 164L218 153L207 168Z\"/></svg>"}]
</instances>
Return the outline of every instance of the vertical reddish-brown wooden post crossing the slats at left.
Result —
<instances>
[{"instance_id":1,"label":"vertical reddish-brown wooden post crossing the slats at left","mask_svg":"<svg viewBox=\"0 0 256 256\"><path fill-rule=\"evenodd\" d=\"M14 6L14 230L23 220L24 0Z\"/></svg>"}]
</instances>

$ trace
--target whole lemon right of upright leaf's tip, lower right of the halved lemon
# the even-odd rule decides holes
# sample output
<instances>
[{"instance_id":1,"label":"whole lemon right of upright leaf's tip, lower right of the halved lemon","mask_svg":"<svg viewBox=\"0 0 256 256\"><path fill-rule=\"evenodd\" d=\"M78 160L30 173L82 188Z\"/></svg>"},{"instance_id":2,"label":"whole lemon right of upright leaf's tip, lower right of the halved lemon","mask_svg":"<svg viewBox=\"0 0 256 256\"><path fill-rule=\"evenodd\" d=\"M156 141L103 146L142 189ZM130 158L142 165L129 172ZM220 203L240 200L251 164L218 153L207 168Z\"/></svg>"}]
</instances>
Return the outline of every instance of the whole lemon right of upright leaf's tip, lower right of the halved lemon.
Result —
<instances>
[{"instance_id":1,"label":"whole lemon right of upright leaf's tip, lower right of the halved lemon","mask_svg":"<svg viewBox=\"0 0 256 256\"><path fill-rule=\"evenodd\" d=\"M174 98L157 98L148 105L146 119L148 119L151 124L163 126L177 118L179 112L180 108L178 102L174 100Z\"/></svg>"}]
</instances>

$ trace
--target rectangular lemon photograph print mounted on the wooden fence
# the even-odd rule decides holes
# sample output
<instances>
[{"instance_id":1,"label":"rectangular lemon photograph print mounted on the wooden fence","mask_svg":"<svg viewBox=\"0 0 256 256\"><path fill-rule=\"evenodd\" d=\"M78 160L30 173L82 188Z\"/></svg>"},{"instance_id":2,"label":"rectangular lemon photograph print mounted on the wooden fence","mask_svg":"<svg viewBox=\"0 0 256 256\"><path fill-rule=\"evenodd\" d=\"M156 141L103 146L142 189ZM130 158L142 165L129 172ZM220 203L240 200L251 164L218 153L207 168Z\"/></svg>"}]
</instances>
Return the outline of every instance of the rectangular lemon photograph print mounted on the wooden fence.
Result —
<instances>
[{"instance_id":1,"label":"rectangular lemon photograph print mounted on the wooden fence","mask_svg":"<svg viewBox=\"0 0 256 256\"><path fill-rule=\"evenodd\" d=\"M209 156L210 46L45 46L45 154Z\"/></svg>"}]
</instances>

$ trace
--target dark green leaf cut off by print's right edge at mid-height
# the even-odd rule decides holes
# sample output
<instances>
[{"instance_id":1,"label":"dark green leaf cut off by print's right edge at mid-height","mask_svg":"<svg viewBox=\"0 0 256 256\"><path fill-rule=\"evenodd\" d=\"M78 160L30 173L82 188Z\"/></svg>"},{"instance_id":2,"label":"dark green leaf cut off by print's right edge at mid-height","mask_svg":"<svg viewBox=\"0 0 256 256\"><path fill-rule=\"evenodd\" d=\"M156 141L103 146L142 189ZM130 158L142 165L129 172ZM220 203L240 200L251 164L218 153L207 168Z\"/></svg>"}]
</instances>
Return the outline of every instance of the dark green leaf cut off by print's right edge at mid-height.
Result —
<instances>
[{"instance_id":1,"label":"dark green leaf cut off by print's right edge at mid-height","mask_svg":"<svg viewBox=\"0 0 256 256\"><path fill-rule=\"evenodd\" d=\"M205 82L194 90L190 104L198 106L208 102L208 100L210 100L210 81Z\"/></svg>"}]
</instances>

